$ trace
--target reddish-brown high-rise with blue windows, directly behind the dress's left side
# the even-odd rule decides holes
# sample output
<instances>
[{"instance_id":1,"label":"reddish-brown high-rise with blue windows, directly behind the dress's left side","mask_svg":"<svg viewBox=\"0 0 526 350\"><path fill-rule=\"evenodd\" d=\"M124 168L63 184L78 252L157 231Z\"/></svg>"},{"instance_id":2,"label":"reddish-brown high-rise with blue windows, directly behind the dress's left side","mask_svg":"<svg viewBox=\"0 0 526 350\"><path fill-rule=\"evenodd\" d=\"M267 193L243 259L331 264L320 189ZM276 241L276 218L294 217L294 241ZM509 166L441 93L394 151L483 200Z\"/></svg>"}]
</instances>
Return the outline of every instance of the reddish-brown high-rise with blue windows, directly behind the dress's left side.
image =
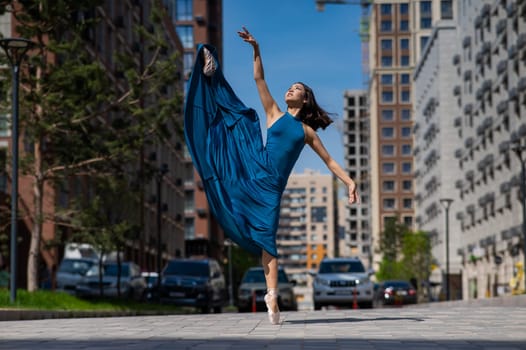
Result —
<instances>
[{"instance_id":1,"label":"reddish-brown high-rise with blue windows, directly behind the dress's left side","mask_svg":"<svg viewBox=\"0 0 526 350\"><path fill-rule=\"evenodd\" d=\"M183 44L184 71L189 78L199 43L223 50L222 0L163 0ZM195 172L190 154L184 164L184 237L185 255L221 258L223 231L211 216L201 179ZM221 259L222 260L222 259Z\"/></svg>"}]
</instances>

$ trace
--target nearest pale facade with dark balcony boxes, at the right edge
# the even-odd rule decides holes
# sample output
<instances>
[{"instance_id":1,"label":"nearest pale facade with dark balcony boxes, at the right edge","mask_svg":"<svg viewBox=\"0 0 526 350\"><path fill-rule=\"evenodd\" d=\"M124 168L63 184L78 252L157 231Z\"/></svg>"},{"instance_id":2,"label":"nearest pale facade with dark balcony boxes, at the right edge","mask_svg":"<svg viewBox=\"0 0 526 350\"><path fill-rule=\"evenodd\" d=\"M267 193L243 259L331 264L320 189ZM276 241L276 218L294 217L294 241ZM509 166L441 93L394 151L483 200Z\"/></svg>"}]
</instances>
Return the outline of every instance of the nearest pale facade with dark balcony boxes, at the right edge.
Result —
<instances>
[{"instance_id":1,"label":"nearest pale facade with dark balcony boxes, at the right edge","mask_svg":"<svg viewBox=\"0 0 526 350\"><path fill-rule=\"evenodd\" d=\"M526 3L462 1L458 11L448 96L460 171L454 219L463 296L473 299L524 290L524 282L510 281L525 253L521 162L513 146L526 140Z\"/></svg>"}]
</instances>

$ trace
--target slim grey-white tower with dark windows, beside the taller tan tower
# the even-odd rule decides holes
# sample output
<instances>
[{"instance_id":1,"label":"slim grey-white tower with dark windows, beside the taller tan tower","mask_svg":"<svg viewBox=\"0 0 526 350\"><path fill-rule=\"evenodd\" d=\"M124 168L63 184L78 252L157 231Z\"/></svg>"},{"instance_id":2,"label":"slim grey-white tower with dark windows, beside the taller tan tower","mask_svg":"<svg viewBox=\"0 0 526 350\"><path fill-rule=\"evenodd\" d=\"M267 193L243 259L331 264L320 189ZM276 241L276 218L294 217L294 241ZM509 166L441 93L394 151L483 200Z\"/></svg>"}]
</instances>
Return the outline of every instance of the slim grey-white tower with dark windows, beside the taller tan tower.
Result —
<instances>
[{"instance_id":1,"label":"slim grey-white tower with dark windows, beside the taller tan tower","mask_svg":"<svg viewBox=\"0 0 526 350\"><path fill-rule=\"evenodd\" d=\"M345 217L345 224L338 240L338 253L339 256L359 257L366 267L370 267L370 132L367 93L364 90L345 91L343 102L345 169L357 183L361 202L346 205L345 211L340 212L340 216Z\"/></svg>"}]
</instances>

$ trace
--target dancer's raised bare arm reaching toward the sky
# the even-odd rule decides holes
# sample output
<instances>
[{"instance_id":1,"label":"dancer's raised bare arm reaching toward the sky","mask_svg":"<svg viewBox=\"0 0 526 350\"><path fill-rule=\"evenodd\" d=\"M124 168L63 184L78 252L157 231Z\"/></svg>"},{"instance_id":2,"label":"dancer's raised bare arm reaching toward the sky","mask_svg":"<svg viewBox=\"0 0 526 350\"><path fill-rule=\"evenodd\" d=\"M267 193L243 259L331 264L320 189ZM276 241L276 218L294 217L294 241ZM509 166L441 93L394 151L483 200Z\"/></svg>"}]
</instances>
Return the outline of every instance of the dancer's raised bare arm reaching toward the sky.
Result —
<instances>
[{"instance_id":1,"label":"dancer's raised bare arm reaching toward the sky","mask_svg":"<svg viewBox=\"0 0 526 350\"><path fill-rule=\"evenodd\" d=\"M259 45L252 34L249 33L247 28L243 27L242 31L237 32L243 41L252 45L254 49L254 80L258 88L259 98L263 104L263 109L267 115L267 126L281 116L281 111L270 94L270 91L265 81L265 71L263 70L263 62L261 61L261 53L259 51Z\"/></svg>"}]
</instances>

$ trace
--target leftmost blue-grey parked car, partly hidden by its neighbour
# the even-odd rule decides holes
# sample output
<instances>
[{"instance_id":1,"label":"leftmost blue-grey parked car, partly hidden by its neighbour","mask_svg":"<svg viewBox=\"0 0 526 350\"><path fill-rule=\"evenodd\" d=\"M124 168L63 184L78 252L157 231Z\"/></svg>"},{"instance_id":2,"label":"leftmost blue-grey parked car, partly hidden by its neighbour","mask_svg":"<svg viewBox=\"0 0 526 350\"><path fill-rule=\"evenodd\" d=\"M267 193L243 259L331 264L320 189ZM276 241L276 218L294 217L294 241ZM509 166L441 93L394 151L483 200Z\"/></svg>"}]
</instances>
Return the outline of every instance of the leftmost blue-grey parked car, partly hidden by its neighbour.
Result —
<instances>
[{"instance_id":1,"label":"leftmost blue-grey parked car, partly hidden by its neighbour","mask_svg":"<svg viewBox=\"0 0 526 350\"><path fill-rule=\"evenodd\" d=\"M75 294L77 285L84 277L97 273L96 270L92 270L92 267L97 264L98 261L94 259L62 259L57 270L57 290Z\"/></svg>"}]
</instances>

